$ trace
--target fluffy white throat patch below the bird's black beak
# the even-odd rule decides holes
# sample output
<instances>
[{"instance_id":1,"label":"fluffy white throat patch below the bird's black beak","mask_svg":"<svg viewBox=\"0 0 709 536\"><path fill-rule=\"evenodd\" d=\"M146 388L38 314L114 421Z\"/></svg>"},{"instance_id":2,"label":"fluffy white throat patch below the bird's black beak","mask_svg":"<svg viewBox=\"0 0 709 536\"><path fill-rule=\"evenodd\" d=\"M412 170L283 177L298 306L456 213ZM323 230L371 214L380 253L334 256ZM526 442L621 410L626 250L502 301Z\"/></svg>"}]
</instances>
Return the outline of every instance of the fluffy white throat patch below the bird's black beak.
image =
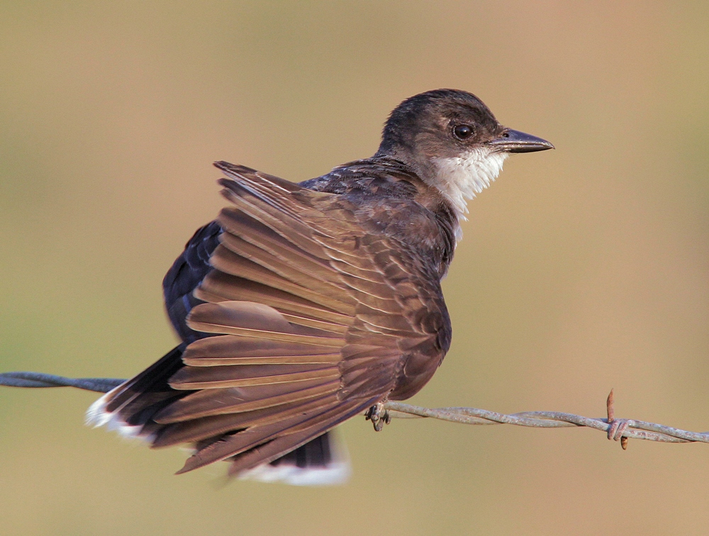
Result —
<instances>
[{"instance_id":1,"label":"fluffy white throat patch below the bird's black beak","mask_svg":"<svg viewBox=\"0 0 709 536\"><path fill-rule=\"evenodd\" d=\"M508 157L506 152L493 152L487 147L478 147L459 157L434 160L441 179L440 190L457 212L465 218L467 200L490 186L502 171Z\"/></svg>"}]
</instances>

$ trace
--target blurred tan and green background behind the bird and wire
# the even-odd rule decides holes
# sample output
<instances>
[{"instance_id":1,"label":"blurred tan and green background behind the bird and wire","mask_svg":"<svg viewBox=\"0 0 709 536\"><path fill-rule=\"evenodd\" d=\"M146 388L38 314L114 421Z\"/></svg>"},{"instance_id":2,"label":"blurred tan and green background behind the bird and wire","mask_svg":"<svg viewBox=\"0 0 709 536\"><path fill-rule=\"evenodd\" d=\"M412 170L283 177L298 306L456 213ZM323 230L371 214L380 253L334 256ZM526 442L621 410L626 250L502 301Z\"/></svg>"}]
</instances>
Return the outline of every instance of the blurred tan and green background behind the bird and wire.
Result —
<instances>
[{"instance_id":1,"label":"blurred tan and green background behind the bird and wire","mask_svg":"<svg viewBox=\"0 0 709 536\"><path fill-rule=\"evenodd\" d=\"M229 160L293 181L372 155L391 108L467 89L555 151L469 205L445 362L413 403L709 429L706 2L0 3L0 370L128 377L175 342L161 281ZM0 390L0 533L703 533L709 445L396 420L335 488L172 473Z\"/></svg>"}]
</instances>

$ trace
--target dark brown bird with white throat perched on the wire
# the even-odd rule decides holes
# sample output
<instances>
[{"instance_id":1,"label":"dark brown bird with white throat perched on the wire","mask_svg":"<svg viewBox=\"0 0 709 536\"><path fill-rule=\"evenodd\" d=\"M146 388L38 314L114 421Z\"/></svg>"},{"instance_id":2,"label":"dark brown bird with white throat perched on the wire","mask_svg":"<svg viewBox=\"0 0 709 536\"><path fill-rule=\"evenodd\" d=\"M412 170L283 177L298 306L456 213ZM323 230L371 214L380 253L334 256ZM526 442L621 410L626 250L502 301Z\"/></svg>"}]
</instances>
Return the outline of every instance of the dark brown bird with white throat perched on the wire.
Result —
<instances>
[{"instance_id":1,"label":"dark brown bird with white throat perched on the wire","mask_svg":"<svg viewBox=\"0 0 709 536\"><path fill-rule=\"evenodd\" d=\"M553 148L436 89L393 109L372 157L314 179L215 162L227 206L163 281L179 345L87 423L191 445L177 474L226 461L244 479L346 479L333 429L363 413L381 428L383 403L417 393L450 347L441 280L467 201L510 154Z\"/></svg>"}]
</instances>

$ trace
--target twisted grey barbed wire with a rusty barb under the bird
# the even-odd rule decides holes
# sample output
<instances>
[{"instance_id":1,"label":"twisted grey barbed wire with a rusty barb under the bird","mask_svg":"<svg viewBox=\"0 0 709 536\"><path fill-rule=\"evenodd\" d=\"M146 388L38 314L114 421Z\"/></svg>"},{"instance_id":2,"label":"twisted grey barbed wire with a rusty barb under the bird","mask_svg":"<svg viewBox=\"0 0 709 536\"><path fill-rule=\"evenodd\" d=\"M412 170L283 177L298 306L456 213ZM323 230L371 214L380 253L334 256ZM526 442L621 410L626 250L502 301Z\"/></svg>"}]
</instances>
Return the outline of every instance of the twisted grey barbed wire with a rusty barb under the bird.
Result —
<instances>
[{"instance_id":1,"label":"twisted grey barbed wire with a rusty barb under the bird","mask_svg":"<svg viewBox=\"0 0 709 536\"><path fill-rule=\"evenodd\" d=\"M75 387L86 391L107 393L122 384L124 379L117 378L67 378L40 372L5 372L0 374L0 386L10 387ZM613 389L606 400L608 416L591 418L559 411L523 411L506 415L478 408L422 408L401 402L388 401L369 411L367 418L372 420L375 430L381 430L391 418L433 418L451 423L469 425L510 424L530 426L532 428L568 428L585 426L606 432L609 440L620 441L623 450L627 440L640 439L665 443L709 443L709 432L689 432L671 426L648 423L644 420L615 418Z\"/></svg>"}]
</instances>

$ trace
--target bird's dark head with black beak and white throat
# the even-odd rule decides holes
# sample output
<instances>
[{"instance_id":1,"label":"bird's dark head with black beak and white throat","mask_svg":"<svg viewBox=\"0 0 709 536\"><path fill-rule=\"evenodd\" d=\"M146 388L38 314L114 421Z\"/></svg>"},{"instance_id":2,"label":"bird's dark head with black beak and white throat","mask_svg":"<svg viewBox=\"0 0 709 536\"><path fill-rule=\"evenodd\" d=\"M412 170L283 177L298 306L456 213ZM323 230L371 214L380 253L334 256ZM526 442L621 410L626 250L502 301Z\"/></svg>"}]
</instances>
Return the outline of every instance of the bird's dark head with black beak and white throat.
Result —
<instances>
[{"instance_id":1,"label":"bird's dark head with black beak and white throat","mask_svg":"<svg viewBox=\"0 0 709 536\"><path fill-rule=\"evenodd\" d=\"M393 157L411 166L462 216L467 199L490 185L510 153L553 148L547 140L498 123L473 94L436 89L394 108L376 156Z\"/></svg>"}]
</instances>

